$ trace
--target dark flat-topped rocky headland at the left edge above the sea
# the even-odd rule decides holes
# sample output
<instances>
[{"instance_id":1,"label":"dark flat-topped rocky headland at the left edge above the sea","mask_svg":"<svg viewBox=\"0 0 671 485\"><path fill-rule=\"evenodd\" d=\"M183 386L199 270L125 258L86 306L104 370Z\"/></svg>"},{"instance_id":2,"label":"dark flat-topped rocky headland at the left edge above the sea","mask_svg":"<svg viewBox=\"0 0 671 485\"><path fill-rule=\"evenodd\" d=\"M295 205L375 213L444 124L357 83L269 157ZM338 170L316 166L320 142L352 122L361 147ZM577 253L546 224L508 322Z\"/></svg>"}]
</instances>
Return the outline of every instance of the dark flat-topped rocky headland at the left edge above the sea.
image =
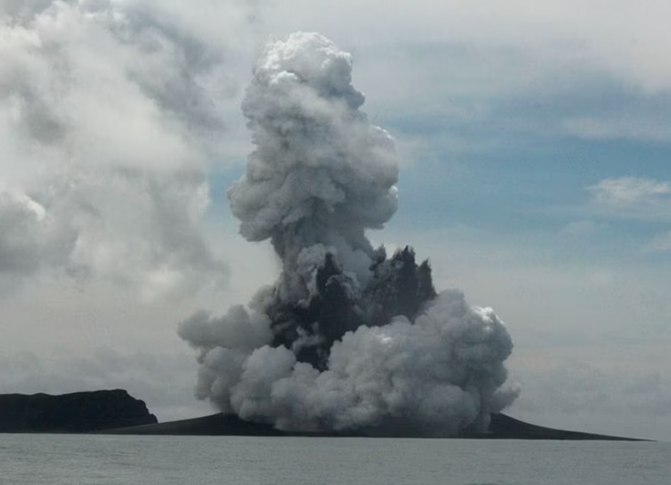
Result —
<instances>
[{"instance_id":1,"label":"dark flat-topped rocky headland at the left edge above the sea","mask_svg":"<svg viewBox=\"0 0 671 485\"><path fill-rule=\"evenodd\" d=\"M0 395L0 432L85 433L157 423L143 401L124 390Z\"/></svg>"}]
</instances>

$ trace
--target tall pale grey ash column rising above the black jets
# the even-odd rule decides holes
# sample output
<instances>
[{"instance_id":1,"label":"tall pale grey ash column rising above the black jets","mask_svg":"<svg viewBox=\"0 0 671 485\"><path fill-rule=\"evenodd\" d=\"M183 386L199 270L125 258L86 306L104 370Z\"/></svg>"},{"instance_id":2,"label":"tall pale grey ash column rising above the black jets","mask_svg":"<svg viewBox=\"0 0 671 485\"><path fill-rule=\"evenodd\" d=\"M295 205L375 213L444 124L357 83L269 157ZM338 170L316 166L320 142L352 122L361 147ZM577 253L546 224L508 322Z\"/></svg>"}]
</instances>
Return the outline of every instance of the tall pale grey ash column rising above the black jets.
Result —
<instances>
[{"instance_id":1,"label":"tall pale grey ash column rising above the black jets","mask_svg":"<svg viewBox=\"0 0 671 485\"><path fill-rule=\"evenodd\" d=\"M358 110L351 62L321 36L292 36L267 51L243 100L256 150L229 191L232 212L249 241L273 239L285 266L323 244L364 273L364 231L397 210L393 142Z\"/></svg>"}]
</instances>

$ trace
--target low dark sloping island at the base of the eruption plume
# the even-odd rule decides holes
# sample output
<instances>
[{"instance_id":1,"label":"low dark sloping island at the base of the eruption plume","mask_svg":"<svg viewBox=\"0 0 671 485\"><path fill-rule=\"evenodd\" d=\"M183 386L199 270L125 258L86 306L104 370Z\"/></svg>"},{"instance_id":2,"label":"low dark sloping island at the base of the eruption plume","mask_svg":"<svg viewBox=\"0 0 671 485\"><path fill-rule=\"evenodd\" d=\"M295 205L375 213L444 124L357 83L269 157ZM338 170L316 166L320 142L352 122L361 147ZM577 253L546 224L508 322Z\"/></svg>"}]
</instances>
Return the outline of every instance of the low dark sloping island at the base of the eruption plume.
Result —
<instances>
[{"instance_id":1,"label":"low dark sloping island at the base of the eruption plume","mask_svg":"<svg viewBox=\"0 0 671 485\"><path fill-rule=\"evenodd\" d=\"M155 425L132 428L110 429L106 434L120 435L191 435L191 436L312 436L312 437L352 437L352 438L421 438L416 429L406 427L365 428L347 432L301 433L281 431L272 425L249 423L232 415L214 414L203 418L183 419ZM511 418L504 414L491 416L488 433L464 433L461 439L552 439L552 440L609 440L645 441L614 436L543 428Z\"/></svg>"}]
</instances>

